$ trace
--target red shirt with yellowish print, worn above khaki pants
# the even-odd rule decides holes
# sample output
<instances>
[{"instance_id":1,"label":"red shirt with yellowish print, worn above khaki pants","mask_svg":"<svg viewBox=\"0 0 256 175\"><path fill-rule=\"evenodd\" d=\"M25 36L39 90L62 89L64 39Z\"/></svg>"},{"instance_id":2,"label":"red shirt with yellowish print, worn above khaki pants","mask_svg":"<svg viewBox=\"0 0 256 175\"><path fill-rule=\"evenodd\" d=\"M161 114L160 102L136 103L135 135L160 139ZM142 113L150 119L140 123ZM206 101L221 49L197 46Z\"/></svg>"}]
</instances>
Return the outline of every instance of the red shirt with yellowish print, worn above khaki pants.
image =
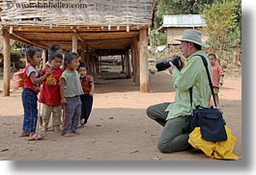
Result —
<instances>
[{"instance_id":1,"label":"red shirt with yellowish print, worn above khaki pants","mask_svg":"<svg viewBox=\"0 0 256 175\"><path fill-rule=\"evenodd\" d=\"M39 101L48 106L60 106L60 77L64 70L62 68L53 69L47 67L43 69L43 74L48 69L50 69L52 74L43 81L43 88L41 90Z\"/></svg>"}]
</instances>

